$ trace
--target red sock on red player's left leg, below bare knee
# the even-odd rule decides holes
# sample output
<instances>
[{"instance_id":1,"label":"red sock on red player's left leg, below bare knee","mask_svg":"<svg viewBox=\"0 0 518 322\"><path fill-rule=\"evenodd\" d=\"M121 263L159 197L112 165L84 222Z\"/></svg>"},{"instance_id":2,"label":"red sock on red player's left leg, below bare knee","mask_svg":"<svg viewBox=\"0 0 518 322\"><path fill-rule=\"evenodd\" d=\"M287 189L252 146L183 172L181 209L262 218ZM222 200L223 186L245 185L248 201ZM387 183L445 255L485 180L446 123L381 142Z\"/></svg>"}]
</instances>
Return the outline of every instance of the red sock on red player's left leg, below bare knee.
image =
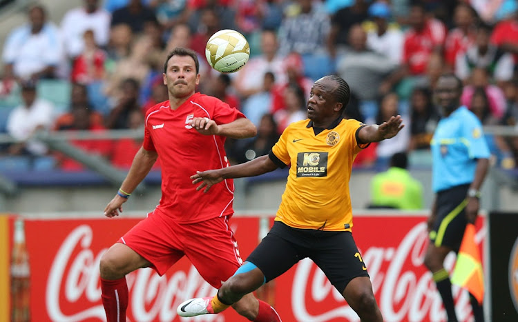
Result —
<instances>
[{"instance_id":1,"label":"red sock on red player's left leg, below bare knee","mask_svg":"<svg viewBox=\"0 0 518 322\"><path fill-rule=\"evenodd\" d=\"M126 277L108 281L101 279L102 305L108 322L125 322L128 308L128 284Z\"/></svg>"}]
</instances>

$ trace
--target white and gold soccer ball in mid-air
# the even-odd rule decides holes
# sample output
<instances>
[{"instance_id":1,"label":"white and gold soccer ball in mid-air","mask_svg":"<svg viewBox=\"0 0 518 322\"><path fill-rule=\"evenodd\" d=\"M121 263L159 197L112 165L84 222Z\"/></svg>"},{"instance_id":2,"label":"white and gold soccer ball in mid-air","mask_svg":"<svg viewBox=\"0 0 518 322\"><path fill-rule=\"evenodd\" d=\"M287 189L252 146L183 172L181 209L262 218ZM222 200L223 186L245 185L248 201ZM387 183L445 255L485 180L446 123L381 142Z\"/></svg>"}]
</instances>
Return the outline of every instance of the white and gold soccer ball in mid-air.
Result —
<instances>
[{"instance_id":1,"label":"white and gold soccer ball in mid-air","mask_svg":"<svg viewBox=\"0 0 518 322\"><path fill-rule=\"evenodd\" d=\"M216 32L207 41L205 57L209 65L218 72L237 72L250 57L250 46L236 30L224 29Z\"/></svg>"}]
</instances>

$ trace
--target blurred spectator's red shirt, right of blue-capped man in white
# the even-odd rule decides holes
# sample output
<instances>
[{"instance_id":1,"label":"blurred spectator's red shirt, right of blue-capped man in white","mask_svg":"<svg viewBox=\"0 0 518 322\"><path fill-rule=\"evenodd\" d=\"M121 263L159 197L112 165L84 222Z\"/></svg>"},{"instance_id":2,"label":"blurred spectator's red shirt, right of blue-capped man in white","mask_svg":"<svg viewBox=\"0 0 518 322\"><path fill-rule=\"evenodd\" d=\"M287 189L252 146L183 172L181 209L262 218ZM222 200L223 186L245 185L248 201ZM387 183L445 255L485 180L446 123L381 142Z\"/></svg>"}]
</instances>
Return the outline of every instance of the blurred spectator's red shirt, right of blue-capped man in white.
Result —
<instances>
[{"instance_id":1,"label":"blurred spectator's red shirt, right of blue-capped man in white","mask_svg":"<svg viewBox=\"0 0 518 322\"><path fill-rule=\"evenodd\" d=\"M403 62L410 67L410 74L421 75L426 71L430 55L444 43L446 29L437 19L430 19L421 31L411 29L405 34Z\"/></svg>"}]
</instances>

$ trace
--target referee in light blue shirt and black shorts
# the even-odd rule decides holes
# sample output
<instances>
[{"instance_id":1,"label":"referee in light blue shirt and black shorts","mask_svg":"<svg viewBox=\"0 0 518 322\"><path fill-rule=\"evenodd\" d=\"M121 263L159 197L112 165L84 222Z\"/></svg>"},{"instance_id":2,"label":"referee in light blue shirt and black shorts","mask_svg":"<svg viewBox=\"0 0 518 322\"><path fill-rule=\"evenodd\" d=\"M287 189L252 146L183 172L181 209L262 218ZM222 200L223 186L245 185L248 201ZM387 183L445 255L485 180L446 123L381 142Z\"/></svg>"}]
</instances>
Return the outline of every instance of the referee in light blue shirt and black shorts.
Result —
<instances>
[{"instance_id":1,"label":"referee in light blue shirt and black shorts","mask_svg":"<svg viewBox=\"0 0 518 322\"><path fill-rule=\"evenodd\" d=\"M448 322L457 322L452 284L443 262L449 252L459 252L467 223L479 212L480 187L486 177L490 152L477 117L460 104L462 82L454 74L437 81L436 101L443 112L432 138L432 188L436 193L428 218L430 245L425 265L432 272L443 299ZM476 322L483 309L470 294Z\"/></svg>"}]
</instances>

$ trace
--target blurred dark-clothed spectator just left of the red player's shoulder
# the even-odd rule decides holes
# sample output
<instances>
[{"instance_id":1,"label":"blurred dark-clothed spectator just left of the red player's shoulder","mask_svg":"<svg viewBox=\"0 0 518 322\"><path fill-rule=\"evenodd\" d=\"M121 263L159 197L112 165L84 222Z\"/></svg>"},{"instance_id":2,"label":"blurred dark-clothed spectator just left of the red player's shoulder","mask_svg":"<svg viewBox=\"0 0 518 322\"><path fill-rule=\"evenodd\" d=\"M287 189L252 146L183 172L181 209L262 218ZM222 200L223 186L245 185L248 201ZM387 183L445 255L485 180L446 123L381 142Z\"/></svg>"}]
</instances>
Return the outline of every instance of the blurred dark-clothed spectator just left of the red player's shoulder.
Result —
<instances>
[{"instance_id":1,"label":"blurred dark-clothed spectator just left of the red player's shoulder","mask_svg":"<svg viewBox=\"0 0 518 322\"><path fill-rule=\"evenodd\" d=\"M110 129L129 128L129 115L133 110L142 113L138 104L139 82L136 79L124 79L121 85L122 97L111 110L107 127Z\"/></svg>"}]
</instances>

